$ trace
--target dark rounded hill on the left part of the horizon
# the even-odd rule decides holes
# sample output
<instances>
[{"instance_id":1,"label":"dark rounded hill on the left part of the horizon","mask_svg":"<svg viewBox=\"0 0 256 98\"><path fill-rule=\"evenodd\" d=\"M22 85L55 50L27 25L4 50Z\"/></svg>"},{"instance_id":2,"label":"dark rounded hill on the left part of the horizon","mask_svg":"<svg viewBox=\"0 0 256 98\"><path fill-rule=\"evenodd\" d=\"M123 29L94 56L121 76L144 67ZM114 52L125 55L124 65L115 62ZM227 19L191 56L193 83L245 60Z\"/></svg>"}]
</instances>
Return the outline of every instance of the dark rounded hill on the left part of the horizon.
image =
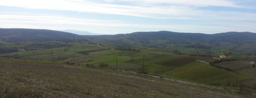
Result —
<instances>
[{"instance_id":1,"label":"dark rounded hill on the left part of the horizon","mask_svg":"<svg viewBox=\"0 0 256 98\"><path fill-rule=\"evenodd\" d=\"M44 29L0 29L0 39L4 42L47 42L75 38L82 38L82 36Z\"/></svg>"}]
</instances>

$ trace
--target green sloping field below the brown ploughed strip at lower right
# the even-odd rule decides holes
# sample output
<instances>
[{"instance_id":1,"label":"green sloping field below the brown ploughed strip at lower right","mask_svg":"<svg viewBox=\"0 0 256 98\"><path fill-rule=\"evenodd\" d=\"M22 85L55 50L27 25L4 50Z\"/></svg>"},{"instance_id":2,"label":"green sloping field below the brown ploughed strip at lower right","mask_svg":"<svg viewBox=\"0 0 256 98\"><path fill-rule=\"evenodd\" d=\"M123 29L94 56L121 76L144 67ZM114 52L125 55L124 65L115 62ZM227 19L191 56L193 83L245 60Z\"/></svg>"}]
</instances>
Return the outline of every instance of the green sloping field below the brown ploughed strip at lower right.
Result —
<instances>
[{"instance_id":1,"label":"green sloping field below the brown ploughed strip at lower right","mask_svg":"<svg viewBox=\"0 0 256 98\"><path fill-rule=\"evenodd\" d=\"M170 74L182 79L217 85L227 85L229 79L231 84L235 83L236 78L238 81L250 79L247 76L238 75L237 73L222 70L197 61L175 68Z\"/></svg>"}]
</instances>

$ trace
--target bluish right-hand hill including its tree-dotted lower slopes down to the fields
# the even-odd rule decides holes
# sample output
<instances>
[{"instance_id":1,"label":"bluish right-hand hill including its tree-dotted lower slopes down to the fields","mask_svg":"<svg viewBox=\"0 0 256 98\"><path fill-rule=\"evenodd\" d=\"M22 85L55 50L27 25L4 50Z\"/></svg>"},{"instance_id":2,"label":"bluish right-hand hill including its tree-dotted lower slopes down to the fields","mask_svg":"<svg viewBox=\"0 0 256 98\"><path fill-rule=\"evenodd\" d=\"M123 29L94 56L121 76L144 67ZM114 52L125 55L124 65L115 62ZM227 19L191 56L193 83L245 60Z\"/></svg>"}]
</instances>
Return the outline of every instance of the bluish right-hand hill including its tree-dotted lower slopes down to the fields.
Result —
<instances>
[{"instance_id":1,"label":"bluish right-hand hill including its tree-dotted lower slopes down to the fields","mask_svg":"<svg viewBox=\"0 0 256 98\"><path fill-rule=\"evenodd\" d=\"M256 33L227 32L218 34L177 33L171 31L136 32L100 38L105 44L179 50L194 56L233 55L255 58Z\"/></svg>"}]
</instances>

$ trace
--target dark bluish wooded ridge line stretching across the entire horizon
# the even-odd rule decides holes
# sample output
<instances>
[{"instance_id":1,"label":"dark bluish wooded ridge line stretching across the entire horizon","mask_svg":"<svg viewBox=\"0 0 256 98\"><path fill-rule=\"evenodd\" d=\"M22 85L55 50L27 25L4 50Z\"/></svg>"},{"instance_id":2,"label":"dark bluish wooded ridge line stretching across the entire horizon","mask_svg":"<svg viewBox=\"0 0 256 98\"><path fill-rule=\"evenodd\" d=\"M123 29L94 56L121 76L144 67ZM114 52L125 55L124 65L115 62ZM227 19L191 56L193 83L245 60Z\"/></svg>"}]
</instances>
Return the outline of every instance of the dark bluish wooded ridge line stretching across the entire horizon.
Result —
<instances>
[{"instance_id":1,"label":"dark bluish wooded ridge line stretching across the entire horizon","mask_svg":"<svg viewBox=\"0 0 256 98\"><path fill-rule=\"evenodd\" d=\"M255 43L256 33L227 32L218 34L177 33L171 31L135 32L116 35L77 35L73 33L44 29L0 29L0 41L4 42L45 42L60 39L96 38L114 45L157 46L166 43L200 42L218 45L219 42L232 44Z\"/></svg>"}]
</instances>

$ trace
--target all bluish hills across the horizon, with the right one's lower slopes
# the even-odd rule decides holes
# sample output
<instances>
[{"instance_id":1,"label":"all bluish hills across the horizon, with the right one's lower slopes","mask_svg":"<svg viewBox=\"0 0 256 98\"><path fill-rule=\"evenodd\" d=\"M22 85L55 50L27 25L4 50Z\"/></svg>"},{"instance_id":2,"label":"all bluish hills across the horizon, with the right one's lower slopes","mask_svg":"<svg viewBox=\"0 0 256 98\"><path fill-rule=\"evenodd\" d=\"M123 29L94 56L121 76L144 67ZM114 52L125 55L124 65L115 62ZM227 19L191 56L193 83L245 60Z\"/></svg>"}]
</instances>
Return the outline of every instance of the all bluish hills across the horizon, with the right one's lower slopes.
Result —
<instances>
[{"instance_id":1,"label":"all bluish hills across the horizon, with the right one's lower slopes","mask_svg":"<svg viewBox=\"0 0 256 98\"><path fill-rule=\"evenodd\" d=\"M77 35L41 29L0 29L3 42L47 42L61 39L90 39L114 46L161 48L196 56L233 55L253 58L256 55L256 33L227 32L218 34L178 33L171 31L135 32L116 35Z\"/></svg>"}]
</instances>

